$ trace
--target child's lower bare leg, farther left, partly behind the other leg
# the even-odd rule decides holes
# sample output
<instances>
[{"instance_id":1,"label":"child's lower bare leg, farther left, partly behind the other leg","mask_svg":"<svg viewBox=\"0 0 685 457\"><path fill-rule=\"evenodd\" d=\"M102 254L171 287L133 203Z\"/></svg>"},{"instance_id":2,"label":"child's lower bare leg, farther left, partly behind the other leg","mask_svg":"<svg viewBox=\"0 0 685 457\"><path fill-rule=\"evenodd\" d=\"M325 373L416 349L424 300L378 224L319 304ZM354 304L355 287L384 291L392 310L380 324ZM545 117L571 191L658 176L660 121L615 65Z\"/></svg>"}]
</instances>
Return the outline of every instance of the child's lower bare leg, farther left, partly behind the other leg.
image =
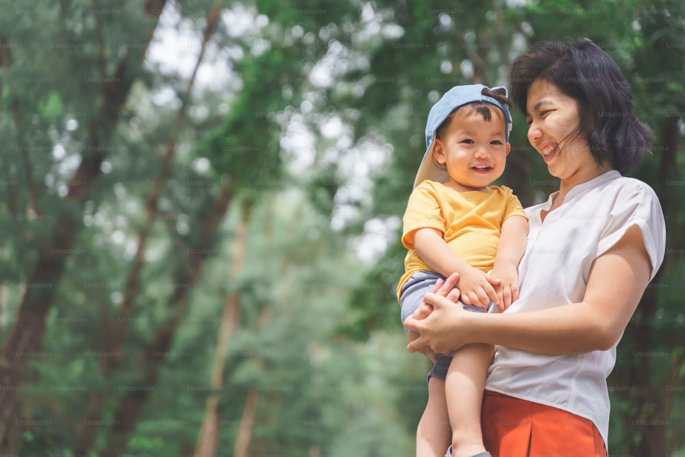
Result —
<instances>
[{"instance_id":1,"label":"child's lower bare leg, farther left, partly behind the other leg","mask_svg":"<svg viewBox=\"0 0 685 457\"><path fill-rule=\"evenodd\" d=\"M416 457L445 457L451 434L445 382L431 377L428 381L428 402L416 429Z\"/></svg>"}]
</instances>

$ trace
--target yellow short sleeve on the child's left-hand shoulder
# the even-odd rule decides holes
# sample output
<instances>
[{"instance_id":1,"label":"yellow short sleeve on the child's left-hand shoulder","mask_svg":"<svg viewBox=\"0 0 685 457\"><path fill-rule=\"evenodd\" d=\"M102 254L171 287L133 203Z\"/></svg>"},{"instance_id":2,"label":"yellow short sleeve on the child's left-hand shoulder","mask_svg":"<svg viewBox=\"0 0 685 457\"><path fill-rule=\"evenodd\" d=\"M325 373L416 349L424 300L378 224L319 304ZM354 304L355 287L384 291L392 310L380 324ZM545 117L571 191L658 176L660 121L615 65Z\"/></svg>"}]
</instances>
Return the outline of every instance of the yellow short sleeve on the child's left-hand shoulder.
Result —
<instances>
[{"instance_id":1,"label":"yellow short sleeve on the child's left-hand shoulder","mask_svg":"<svg viewBox=\"0 0 685 457\"><path fill-rule=\"evenodd\" d=\"M411 235L416 230L433 228L445 233L445 217L440 208L440 197L429 182L424 181L414 188L402 223L402 244L407 249L414 249Z\"/></svg>"}]
</instances>

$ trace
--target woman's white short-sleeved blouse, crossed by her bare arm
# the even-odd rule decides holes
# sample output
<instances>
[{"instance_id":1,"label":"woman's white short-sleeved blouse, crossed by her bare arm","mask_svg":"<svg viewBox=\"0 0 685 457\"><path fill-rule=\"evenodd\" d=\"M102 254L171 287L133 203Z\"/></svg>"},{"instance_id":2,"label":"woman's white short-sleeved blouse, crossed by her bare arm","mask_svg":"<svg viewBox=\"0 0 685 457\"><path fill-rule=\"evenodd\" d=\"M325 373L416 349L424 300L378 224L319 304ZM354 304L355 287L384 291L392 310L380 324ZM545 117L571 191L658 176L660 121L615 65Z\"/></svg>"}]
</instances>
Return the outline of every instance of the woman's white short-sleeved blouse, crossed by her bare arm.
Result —
<instances>
[{"instance_id":1,"label":"woman's white short-sleeved blouse, crossed by her bare arm","mask_svg":"<svg viewBox=\"0 0 685 457\"><path fill-rule=\"evenodd\" d=\"M526 208L528 245L519 265L519 299L505 312L530 312L582 301L593 261L632 225L642 232L652 280L664 260L666 225L658 197L644 182L608 171L575 186L545 222L545 203ZM535 323L532 325L545 325ZM486 389L554 406L595 423L604 442L609 431L606 378L616 362L608 351L546 356L495 347Z\"/></svg>"}]
</instances>

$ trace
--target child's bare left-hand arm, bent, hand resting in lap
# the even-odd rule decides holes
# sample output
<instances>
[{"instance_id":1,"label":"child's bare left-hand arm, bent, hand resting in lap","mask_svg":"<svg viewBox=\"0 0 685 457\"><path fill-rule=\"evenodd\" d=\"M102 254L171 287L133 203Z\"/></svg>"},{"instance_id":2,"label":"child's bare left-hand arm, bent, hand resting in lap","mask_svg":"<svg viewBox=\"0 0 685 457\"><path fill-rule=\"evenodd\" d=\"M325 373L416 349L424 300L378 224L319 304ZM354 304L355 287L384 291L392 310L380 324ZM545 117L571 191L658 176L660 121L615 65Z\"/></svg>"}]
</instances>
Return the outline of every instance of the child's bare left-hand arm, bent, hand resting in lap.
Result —
<instances>
[{"instance_id":1,"label":"child's bare left-hand arm, bent, hand resting in lap","mask_svg":"<svg viewBox=\"0 0 685 457\"><path fill-rule=\"evenodd\" d=\"M416 230L412 234L412 244L416 254L419 254L429 267L441 275L447 277L452 273L459 273L458 288L465 304L481 308L487 308L490 300L499 304L499 296L493 287L499 284L499 280L466 263L466 260L458 256L445 243L440 230L433 228Z\"/></svg>"}]
</instances>

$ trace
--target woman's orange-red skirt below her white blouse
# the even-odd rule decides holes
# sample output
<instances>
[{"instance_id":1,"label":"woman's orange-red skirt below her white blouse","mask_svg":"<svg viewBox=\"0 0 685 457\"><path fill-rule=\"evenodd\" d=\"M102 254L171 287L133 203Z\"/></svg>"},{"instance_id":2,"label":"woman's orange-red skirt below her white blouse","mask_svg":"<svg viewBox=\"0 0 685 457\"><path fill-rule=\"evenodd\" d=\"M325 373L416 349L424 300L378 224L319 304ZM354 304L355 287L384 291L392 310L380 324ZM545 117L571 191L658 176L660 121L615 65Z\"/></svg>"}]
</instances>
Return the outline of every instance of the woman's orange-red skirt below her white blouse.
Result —
<instances>
[{"instance_id":1,"label":"woman's orange-red skirt below her white blouse","mask_svg":"<svg viewBox=\"0 0 685 457\"><path fill-rule=\"evenodd\" d=\"M590 419L571 412L485 391L483 442L493 457L606 457Z\"/></svg>"}]
</instances>

